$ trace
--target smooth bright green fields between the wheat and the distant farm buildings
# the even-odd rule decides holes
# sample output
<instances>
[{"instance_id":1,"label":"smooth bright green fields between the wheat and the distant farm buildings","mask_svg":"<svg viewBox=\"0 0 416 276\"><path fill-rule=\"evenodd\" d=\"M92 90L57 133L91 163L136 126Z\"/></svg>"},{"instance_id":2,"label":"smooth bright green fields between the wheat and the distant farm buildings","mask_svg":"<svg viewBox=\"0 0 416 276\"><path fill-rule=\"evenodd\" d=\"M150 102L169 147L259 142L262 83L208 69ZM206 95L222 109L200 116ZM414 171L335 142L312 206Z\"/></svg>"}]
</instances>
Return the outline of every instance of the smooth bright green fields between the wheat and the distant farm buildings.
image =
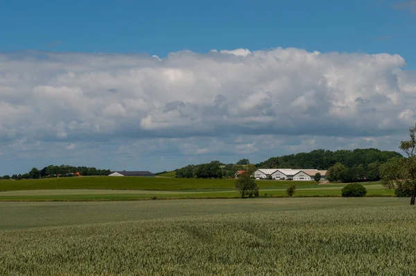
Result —
<instances>
[{"instance_id":1,"label":"smooth bright green fields between the wheat and the distant farm buildings","mask_svg":"<svg viewBox=\"0 0 416 276\"><path fill-rule=\"evenodd\" d=\"M286 196L291 181L257 181L261 197ZM345 184L295 182L297 196L341 196ZM367 196L395 196L379 183L365 184ZM234 180L178 178L51 178L1 180L1 200L143 200L150 198L239 198Z\"/></svg>"}]
</instances>

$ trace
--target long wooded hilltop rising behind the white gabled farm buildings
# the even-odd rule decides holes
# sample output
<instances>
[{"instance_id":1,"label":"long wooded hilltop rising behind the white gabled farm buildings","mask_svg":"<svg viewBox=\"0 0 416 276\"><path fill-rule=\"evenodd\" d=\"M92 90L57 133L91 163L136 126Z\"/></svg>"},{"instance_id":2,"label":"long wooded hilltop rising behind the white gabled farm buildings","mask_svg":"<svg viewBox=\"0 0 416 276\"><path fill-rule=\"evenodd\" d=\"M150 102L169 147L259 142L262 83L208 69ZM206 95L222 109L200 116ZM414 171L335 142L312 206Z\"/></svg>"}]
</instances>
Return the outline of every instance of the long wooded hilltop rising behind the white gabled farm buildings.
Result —
<instances>
[{"instance_id":1,"label":"long wooded hilltop rising behind the white gabled farm buildings","mask_svg":"<svg viewBox=\"0 0 416 276\"><path fill-rule=\"evenodd\" d=\"M401 157L395 151L378 150L376 148L357 148L355 150L312 150L310 153L297 153L271 157L256 164L257 168L291 168L291 169L319 169L326 170L336 163L344 164L348 168L363 165L367 168L372 163L384 163L392 157Z\"/></svg>"}]
</instances>

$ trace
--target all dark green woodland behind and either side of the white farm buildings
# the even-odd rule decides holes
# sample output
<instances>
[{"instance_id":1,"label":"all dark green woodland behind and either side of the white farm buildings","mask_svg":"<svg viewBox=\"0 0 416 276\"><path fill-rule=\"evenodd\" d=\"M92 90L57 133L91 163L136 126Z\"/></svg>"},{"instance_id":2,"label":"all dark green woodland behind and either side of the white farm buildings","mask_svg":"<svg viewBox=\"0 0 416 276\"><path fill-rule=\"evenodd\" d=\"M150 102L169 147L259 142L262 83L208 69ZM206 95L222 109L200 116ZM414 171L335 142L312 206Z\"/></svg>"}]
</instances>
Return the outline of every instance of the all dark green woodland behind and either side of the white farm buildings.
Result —
<instances>
[{"instance_id":1,"label":"all dark green woodland behind and either side of the white farm buildings","mask_svg":"<svg viewBox=\"0 0 416 276\"><path fill-rule=\"evenodd\" d=\"M259 164L250 164L241 159L236 164L223 164L212 161L207 164L188 165L175 171L177 178L232 178L236 171L257 169L320 169L329 170L329 181L360 182L380 180L380 165L393 157L403 157L400 153L376 148L355 150L312 150L310 153L297 153L271 157ZM328 175L327 175L328 178Z\"/></svg>"}]
</instances>

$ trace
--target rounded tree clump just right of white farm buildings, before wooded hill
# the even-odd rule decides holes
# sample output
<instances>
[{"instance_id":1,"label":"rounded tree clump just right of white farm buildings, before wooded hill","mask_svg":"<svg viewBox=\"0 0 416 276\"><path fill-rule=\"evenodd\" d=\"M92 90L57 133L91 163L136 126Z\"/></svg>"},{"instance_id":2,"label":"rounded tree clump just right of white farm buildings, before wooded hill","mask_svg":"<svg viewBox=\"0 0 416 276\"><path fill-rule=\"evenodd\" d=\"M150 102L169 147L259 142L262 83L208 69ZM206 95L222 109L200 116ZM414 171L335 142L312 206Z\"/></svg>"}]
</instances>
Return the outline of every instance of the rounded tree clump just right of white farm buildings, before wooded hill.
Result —
<instances>
[{"instance_id":1,"label":"rounded tree clump just right of white farm buildings, before wooded hill","mask_svg":"<svg viewBox=\"0 0 416 276\"><path fill-rule=\"evenodd\" d=\"M380 162L373 162L367 166L363 164L354 165L352 167L345 166L337 162L331 166L327 171L327 180L331 182L363 182L363 181L378 181L380 176Z\"/></svg>"}]
</instances>

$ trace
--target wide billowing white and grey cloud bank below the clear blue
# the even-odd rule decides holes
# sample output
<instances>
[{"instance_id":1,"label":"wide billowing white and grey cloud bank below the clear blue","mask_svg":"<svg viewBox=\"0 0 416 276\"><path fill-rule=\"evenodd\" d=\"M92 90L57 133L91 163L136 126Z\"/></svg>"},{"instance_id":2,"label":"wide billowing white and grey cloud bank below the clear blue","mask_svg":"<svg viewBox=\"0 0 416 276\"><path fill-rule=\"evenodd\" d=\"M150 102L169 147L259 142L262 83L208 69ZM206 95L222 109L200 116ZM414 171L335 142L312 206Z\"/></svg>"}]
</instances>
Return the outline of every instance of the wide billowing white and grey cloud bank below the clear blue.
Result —
<instances>
[{"instance_id":1,"label":"wide billowing white and grey cloud bank below the clear blue","mask_svg":"<svg viewBox=\"0 0 416 276\"><path fill-rule=\"evenodd\" d=\"M400 55L293 48L180 51L163 59L3 53L0 142L15 148L17 141L76 143L78 149L90 141L168 139L181 154L198 156L219 153L227 137L232 142L224 148L246 155L270 148L273 139L263 143L268 135L291 137L288 144L304 137L305 149L319 146L313 137L374 146L379 140L371 137L401 134L416 119L416 71L404 65ZM254 143L247 135L262 138ZM218 140L187 145L192 137Z\"/></svg>"}]
</instances>

